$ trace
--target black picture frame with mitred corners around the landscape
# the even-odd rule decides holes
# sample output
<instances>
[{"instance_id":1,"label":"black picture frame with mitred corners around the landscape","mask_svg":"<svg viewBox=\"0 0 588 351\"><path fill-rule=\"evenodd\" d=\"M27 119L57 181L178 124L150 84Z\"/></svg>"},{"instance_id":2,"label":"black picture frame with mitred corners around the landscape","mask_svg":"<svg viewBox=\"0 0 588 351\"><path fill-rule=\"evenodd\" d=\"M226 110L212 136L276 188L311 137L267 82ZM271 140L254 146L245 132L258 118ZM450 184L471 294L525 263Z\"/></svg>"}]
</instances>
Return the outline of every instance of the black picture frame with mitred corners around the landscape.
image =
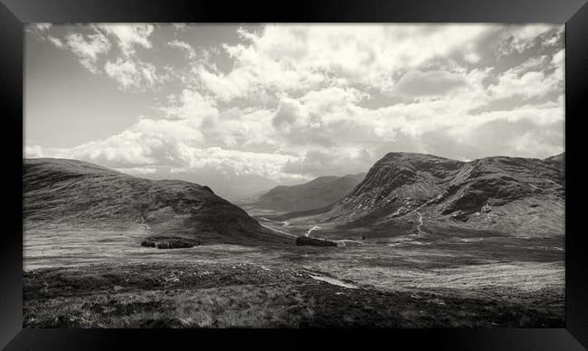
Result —
<instances>
[{"instance_id":1,"label":"black picture frame with mitred corners around the landscape","mask_svg":"<svg viewBox=\"0 0 588 351\"><path fill-rule=\"evenodd\" d=\"M6 349L308 347L318 343L473 350L582 350L588 347L588 272L583 212L583 139L588 101L588 5L585 0L412 0L223 3L187 0L0 0L0 111L4 129L3 240L0 242L0 347ZM22 166L24 24L90 22L369 22L565 24L565 328L398 330L23 329ZM308 337L313 337L309 341ZM276 344L278 343L278 344ZM401 347L403 349L403 347Z\"/></svg>"}]
</instances>

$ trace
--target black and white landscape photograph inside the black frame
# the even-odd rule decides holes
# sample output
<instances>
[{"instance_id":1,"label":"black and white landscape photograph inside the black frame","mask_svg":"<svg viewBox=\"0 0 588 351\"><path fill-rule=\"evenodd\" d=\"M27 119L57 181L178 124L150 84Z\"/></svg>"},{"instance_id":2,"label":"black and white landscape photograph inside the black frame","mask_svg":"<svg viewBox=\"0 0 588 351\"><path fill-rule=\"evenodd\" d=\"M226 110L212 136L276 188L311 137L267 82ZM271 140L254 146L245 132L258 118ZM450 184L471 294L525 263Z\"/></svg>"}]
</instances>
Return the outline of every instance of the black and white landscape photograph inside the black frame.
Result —
<instances>
[{"instance_id":1,"label":"black and white landscape photograph inside the black frame","mask_svg":"<svg viewBox=\"0 0 588 351\"><path fill-rule=\"evenodd\" d=\"M26 24L23 327L564 328L564 43Z\"/></svg>"}]
</instances>

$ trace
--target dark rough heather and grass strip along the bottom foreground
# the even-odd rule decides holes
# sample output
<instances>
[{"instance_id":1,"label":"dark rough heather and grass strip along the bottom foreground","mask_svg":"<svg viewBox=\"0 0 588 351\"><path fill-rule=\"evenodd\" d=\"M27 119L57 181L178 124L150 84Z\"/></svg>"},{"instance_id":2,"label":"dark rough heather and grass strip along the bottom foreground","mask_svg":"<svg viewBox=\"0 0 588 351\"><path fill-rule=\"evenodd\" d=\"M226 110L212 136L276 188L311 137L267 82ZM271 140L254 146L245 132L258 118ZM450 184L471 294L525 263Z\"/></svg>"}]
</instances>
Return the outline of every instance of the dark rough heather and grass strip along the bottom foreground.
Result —
<instances>
[{"instance_id":1,"label":"dark rough heather and grass strip along the bottom foreground","mask_svg":"<svg viewBox=\"0 0 588 351\"><path fill-rule=\"evenodd\" d=\"M24 272L24 327L564 326L558 290L468 298L350 289L313 279L321 274L183 261L32 270Z\"/></svg>"}]
</instances>

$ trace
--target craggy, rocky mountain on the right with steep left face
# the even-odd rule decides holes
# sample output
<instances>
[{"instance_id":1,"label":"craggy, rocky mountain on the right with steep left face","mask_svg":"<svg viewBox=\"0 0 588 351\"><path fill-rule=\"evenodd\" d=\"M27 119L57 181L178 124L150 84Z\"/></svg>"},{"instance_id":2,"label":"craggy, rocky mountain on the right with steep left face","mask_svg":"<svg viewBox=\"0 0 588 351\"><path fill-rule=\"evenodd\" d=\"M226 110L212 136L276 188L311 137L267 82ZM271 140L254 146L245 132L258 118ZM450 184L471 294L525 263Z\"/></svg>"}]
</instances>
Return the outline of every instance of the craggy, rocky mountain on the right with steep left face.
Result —
<instances>
[{"instance_id":1,"label":"craggy, rocky mountain on the right with steep left face","mask_svg":"<svg viewBox=\"0 0 588 351\"><path fill-rule=\"evenodd\" d=\"M389 153L322 216L350 226L422 223L519 236L564 234L564 154L461 162Z\"/></svg>"}]
</instances>

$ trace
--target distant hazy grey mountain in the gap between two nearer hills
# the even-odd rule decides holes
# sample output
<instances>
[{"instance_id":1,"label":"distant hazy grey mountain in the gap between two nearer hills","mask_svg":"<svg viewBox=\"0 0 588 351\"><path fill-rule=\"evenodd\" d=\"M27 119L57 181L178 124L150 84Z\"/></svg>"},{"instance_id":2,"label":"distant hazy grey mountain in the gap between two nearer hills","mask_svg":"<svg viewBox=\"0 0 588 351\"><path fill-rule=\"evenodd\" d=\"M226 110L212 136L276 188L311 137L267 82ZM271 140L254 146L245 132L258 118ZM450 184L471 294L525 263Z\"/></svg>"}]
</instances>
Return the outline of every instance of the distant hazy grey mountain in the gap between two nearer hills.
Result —
<instances>
[{"instance_id":1,"label":"distant hazy grey mountain in the gap between two nearer hills","mask_svg":"<svg viewBox=\"0 0 588 351\"><path fill-rule=\"evenodd\" d=\"M320 176L301 185L280 185L263 194L257 205L278 211L308 211L333 204L352 191L365 173Z\"/></svg>"}]
</instances>

